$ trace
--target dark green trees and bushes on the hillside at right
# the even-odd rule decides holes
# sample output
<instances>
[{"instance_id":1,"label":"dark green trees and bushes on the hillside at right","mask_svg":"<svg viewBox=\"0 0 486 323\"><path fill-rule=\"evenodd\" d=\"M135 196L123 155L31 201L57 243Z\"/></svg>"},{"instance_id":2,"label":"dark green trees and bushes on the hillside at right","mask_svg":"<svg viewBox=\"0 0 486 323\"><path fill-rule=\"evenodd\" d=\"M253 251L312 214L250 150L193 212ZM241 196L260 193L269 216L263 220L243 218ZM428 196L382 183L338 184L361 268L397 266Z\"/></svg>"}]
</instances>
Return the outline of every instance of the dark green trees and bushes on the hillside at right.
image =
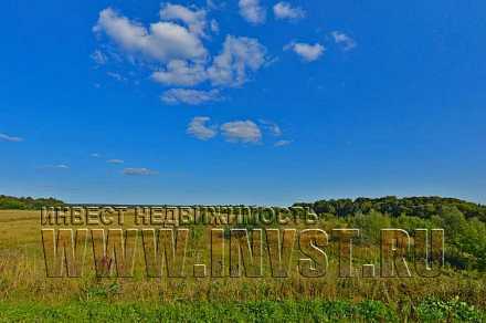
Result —
<instances>
[{"instance_id":1,"label":"dark green trees and bushes on the hillside at right","mask_svg":"<svg viewBox=\"0 0 486 323\"><path fill-rule=\"evenodd\" d=\"M383 197L318 200L311 207L321 218L363 231L379 242L381 228L443 228L446 262L459 269L486 271L486 206L441 197Z\"/></svg>"}]
</instances>

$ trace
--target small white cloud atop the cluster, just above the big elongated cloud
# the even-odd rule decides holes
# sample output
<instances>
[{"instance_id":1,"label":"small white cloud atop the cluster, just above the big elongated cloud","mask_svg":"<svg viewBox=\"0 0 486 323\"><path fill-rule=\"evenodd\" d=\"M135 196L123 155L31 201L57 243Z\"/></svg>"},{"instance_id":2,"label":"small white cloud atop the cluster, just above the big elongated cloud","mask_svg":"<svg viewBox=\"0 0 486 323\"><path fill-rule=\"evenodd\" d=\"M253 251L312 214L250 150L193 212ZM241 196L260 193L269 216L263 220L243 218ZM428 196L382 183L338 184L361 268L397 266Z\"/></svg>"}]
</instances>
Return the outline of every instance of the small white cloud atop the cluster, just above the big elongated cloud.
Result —
<instances>
[{"instance_id":1,"label":"small white cloud atop the cluster, just above the big elongated cloud","mask_svg":"<svg viewBox=\"0 0 486 323\"><path fill-rule=\"evenodd\" d=\"M166 6L160 9L160 19L182 21L191 33L202 37L205 35L205 10L191 10L180 4L166 3Z\"/></svg>"}]
</instances>

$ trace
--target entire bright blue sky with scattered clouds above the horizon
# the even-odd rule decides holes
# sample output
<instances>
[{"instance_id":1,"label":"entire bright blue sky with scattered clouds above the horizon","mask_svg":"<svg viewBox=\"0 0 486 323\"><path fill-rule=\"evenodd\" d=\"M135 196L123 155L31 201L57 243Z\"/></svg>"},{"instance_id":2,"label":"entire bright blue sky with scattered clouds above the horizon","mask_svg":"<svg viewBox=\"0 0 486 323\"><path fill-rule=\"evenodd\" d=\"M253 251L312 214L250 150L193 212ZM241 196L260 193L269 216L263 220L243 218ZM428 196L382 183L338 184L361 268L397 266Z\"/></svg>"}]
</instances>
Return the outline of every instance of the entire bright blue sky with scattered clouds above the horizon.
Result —
<instances>
[{"instance_id":1,"label":"entire bright blue sky with scattered clouds above the horizon","mask_svg":"<svg viewBox=\"0 0 486 323\"><path fill-rule=\"evenodd\" d=\"M1 194L486 202L484 1L1 7Z\"/></svg>"}]
</instances>

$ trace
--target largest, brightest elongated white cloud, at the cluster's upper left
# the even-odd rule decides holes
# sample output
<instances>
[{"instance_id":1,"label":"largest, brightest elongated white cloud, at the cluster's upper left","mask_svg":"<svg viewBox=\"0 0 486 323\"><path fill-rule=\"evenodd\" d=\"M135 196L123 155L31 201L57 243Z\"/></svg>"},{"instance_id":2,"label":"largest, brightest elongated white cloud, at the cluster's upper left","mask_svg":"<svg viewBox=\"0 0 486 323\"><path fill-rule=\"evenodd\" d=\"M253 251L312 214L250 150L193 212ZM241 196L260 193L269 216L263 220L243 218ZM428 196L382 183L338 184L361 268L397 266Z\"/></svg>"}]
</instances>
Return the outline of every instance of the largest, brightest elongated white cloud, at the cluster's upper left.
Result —
<instances>
[{"instance_id":1,"label":"largest, brightest elongated white cloud, at the cluster's upper left","mask_svg":"<svg viewBox=\"0 0 486 323\"><path fill-rule=\"evenodd\" d=\"M204 60L207 50L196 33L173 22L151 23L147 30L138 22L118 14L112 8L99 12L96 33L105 33L126 54L141 54L160 62L177 59Z\"/></svg>"}]
</instances>

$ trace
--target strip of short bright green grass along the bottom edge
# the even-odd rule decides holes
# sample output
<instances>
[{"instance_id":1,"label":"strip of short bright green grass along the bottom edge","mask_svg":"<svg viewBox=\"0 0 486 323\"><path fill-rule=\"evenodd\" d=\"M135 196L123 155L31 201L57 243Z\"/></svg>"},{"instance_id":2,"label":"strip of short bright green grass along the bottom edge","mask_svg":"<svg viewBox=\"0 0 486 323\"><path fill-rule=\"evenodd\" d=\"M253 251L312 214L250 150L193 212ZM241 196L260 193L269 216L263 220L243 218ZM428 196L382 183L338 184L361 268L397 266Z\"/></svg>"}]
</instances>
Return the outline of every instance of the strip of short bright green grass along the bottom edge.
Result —
<instances>
[{"instance_id":1,"label":"strip of short bright green grass along the bottom edge","mask_svg":"<svg viewBox=\"0 0 486 323\"><path fill-rule=\"evenodd\" d=\"M0 304L6 321L119 321L119 322L483 322L485 314L458 300L425 300L412 312L379 301L254 301L242 303L106 303L62 305Z\"/></svg>"}]
</instances>

